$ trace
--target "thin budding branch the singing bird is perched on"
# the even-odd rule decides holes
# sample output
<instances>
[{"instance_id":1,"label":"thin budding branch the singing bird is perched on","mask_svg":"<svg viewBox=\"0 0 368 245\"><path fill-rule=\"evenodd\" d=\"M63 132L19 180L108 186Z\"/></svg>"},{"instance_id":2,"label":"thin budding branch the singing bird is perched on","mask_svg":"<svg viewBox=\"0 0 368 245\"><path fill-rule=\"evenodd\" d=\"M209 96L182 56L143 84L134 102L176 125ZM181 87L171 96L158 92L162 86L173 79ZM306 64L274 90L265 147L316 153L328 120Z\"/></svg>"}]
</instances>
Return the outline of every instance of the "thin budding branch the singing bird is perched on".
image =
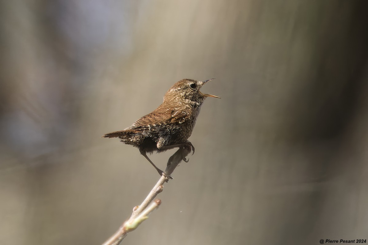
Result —
<instances>
[{"instance_id":1,"label":"thin budding branch the singing bird is perched on","mask_svg":"<svg viewBox=\"0 0 368 245\"><path fill-rule=\"evenodd\" d=\"M190 147L179 148L167 161L165 173L171 175L174 169L179 165L183 158L187 157L191 152ZM144 220L148 219L149 213L158 208L161 204L160 199L156 199L155 202L151 203L153 199L163 190L163 184L166 182L166 177L161 176L159 181L155 184L148 196L139 206L133 208L133 213L130 218L125 221L120 228L114 233L106 242L102 245L118 245L128 235L130 231L134 231L139 224ZM150 205L151 203L151 205Z\"/></svg>"}]
</instances>

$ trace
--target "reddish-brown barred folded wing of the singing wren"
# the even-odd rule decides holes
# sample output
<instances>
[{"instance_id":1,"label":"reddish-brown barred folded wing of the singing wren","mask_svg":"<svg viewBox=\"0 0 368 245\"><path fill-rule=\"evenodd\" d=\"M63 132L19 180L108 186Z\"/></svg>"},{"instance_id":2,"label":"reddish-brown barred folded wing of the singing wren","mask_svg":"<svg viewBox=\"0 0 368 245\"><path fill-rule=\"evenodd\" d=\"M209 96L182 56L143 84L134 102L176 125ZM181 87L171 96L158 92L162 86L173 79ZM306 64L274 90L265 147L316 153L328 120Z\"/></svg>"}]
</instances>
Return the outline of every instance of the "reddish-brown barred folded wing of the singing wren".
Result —
<instances>
[{"instance_id":1,"label":"reddish-brown barred folded wing of the singing wren","mask_svg":"<svg viewBox=\"0 0 368 245\"><path fill-rule=\"evenodd\" d=\"M187 120L188 114L185 112L185 107L173 107L170 109L162 110L156 109L148 115L137 120L128 129L145 130L151 127L164 127L168 124L183 123Z\"/></svg>"}]
</instances>

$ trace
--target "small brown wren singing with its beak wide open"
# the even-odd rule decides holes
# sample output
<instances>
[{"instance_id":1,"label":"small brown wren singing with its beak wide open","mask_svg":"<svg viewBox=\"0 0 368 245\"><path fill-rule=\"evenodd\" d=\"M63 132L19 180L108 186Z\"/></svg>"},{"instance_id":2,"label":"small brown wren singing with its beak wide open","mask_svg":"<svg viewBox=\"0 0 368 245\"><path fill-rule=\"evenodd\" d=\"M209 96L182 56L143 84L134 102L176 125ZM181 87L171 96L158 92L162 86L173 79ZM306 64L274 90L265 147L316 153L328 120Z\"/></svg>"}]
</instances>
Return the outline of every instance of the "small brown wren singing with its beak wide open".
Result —
<instances>
[{"instance_id":1,"label":"small brown wren singing with its beak wide open","mask_svg":"<svg viewBox=\"0 0 368 245\"><path fill-rule=\"evenodd\" d=\"M220 98L199 91L205 83L213 79L204 82L192 79L180 80L166 92L162 104L155 111L138 119L131 127L102 137L119 138L124 144L137 147L160 175L172 179L156 167L147 153L163 152L176 147L191 147L194 154L194 146L188 138L192 134L201 105L207 97ZM188 162L184 156L183 160Z\"/></svg>"}]
</instances>

